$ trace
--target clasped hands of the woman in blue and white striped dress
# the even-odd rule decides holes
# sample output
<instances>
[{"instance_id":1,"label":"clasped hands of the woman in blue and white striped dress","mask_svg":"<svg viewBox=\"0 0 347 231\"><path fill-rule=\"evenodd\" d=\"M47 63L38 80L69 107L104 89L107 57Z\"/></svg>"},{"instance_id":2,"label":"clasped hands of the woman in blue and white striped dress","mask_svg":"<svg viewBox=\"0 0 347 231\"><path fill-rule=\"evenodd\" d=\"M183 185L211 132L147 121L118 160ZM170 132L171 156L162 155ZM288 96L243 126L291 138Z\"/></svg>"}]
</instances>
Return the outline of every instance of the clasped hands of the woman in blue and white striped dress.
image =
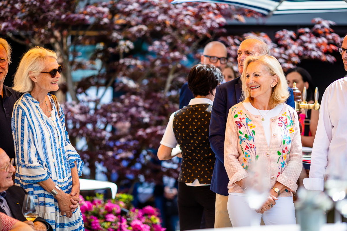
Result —
<instances>
[{"instance_id":1,"label":"clasped hands of the woman in blue and white striped dress","mask_svg":"<svg viewBox=\"0 0 347 231\"><path fill-rule=\"evenodd\" d=\"M61 215L64 216L66 214L68 218L71 218L72 213L78 207L79 202L82 201L82 199L79 198L79 186L73 186L70 194L64 193L61 190L59 190L56 199L58 201L58 206L61 211Z\"/></svg>"}]
</instances>

